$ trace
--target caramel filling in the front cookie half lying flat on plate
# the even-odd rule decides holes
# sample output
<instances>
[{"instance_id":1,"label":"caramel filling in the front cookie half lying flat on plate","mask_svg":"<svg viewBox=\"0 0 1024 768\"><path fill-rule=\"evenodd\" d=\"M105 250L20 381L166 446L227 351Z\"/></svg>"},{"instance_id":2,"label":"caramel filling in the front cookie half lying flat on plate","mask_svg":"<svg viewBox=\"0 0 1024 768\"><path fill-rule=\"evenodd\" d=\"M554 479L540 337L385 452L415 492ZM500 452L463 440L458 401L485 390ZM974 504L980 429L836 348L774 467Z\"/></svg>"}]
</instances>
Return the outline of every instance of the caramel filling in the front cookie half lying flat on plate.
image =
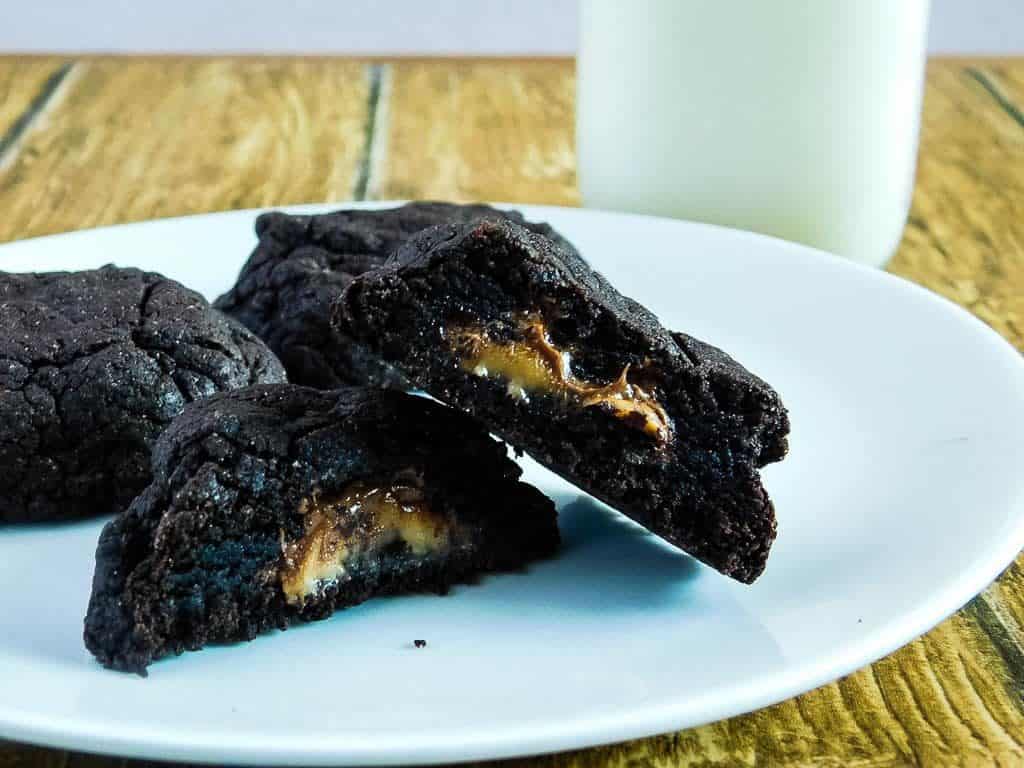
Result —
<instances>
[{"instance_id":1,"label":"caramel filling in the front cookie half lying flat on plate","mask_svg":"<svg viewBox=\"0 0 1024 768\"><path fill-rule=\"evenodd\" d=\"M282 531L281 586L292 604L347 579L352 567L385 547L402 542L416 557L444 555L455 524L426 505L413 484L388 486L356 480L339 496L313 496L299 511L305 534L285 541Z\"/></svg>"}]
</instances>

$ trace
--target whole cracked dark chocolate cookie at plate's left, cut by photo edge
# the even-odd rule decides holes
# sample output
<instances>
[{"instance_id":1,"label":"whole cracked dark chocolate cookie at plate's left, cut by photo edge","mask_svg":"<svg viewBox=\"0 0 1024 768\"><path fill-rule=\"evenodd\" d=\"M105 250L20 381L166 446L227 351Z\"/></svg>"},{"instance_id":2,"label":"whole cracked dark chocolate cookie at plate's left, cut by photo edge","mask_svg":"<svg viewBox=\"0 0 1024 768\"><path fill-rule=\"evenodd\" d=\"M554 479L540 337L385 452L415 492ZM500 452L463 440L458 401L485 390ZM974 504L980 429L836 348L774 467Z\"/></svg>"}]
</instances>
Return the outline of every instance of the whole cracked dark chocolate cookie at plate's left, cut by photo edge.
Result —
<instances>
[{"instance_id":1,"label":"whole cracked dark chocolate cookie at plate's left, cut by photo edge","mask_svg":"<svg viewBox=\"0 0 1024 768\"><path fill-rule=\"evenodd\" d=\"M284 381L241 325L160 274L0 272L0 523L118 512L185 403Z\"/></svg>"}]
</instances>

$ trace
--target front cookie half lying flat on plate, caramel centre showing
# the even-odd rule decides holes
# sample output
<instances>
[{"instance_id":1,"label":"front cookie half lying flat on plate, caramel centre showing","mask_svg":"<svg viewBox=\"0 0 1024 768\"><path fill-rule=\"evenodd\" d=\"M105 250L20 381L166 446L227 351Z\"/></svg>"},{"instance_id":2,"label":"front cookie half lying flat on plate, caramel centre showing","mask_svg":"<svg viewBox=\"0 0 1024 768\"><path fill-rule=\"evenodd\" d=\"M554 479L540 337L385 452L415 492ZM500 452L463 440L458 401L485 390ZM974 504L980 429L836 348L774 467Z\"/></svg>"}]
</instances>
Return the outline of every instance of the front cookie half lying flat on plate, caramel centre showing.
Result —
<instances>
[{"instance_id":1,"label":"front cookie half lying flat on plate, caramel centre showing","mask_svg":"<svg viewBox=\"0 0 1024 768\"><path fill-rule=\"evenodd\" d=\"M558 545L554 505L456 411L269 385L189 406L154 481L103 529L85 644L144 674L375 595L443 593Z\"/></svg>"}]
</instances>

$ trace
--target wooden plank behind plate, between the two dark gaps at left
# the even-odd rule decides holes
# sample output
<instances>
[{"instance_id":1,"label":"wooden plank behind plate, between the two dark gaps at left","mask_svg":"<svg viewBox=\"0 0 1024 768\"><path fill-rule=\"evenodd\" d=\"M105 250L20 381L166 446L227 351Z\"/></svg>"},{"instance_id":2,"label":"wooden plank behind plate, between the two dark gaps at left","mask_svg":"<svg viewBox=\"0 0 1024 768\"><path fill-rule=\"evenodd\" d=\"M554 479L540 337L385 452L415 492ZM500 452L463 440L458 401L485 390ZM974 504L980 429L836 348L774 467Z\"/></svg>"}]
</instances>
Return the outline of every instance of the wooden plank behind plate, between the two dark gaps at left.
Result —
<instances>
[{"instance_id":1,"label":"wooden plank behind plate, between the two dark gaps at left","mask_svg":"<svg viewBox=\"0 0 1024 768\"><path fill-rule=\"evenodd\" d=\"M0 171L0 242L204 211L348 199L364 65L90 59Z\"/></svg>"}]
</instances>

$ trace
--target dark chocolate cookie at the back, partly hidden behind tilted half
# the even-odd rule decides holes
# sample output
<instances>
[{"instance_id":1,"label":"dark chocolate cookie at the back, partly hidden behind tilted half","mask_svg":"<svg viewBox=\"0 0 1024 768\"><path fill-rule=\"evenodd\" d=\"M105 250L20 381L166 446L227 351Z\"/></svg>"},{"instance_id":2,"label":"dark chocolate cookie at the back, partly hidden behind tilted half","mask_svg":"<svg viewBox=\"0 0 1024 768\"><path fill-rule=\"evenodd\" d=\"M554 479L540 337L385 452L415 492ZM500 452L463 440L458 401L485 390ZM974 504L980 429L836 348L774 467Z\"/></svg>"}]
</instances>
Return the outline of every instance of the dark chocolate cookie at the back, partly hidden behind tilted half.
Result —
<instances>
[{"instance_id":1,"label":"dark chocolate cookie at the back, partly hidden behind tilted half","mask_svg":"<svg viewBox=\"0 0 1024 768\"><path fill-rule=\"evenodd\" d=\"M383 263L408 238L442 222L504 216L571 246L547 224L485 205L410 203L384 210L343 210L317 216L265 213L259 243L234 287L215 302L281 357L289 380L321 389L370 384L404 389L390 366L331 330L330 305L352 278Z\"/></svg>"}]
</instances>

